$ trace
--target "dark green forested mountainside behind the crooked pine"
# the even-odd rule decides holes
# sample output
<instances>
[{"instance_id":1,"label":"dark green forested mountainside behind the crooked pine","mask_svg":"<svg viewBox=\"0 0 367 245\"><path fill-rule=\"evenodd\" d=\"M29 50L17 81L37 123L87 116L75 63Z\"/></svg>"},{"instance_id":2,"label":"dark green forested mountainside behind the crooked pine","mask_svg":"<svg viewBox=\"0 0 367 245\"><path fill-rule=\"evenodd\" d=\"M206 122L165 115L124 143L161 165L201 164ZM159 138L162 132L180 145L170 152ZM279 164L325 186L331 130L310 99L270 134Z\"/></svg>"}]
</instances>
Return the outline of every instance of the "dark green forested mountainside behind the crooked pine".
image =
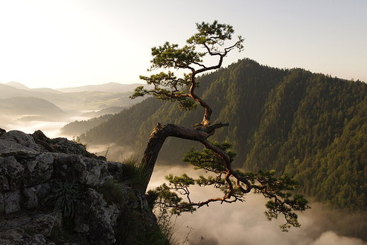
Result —
<instances>
[{"instance_id":1,"label":"dark green forested mountainside behind the crooked pine","mask_svg":"<svg viewBox=\"0 0 367 245\"><path fill-rule=\"evenodd\" d=\"M212 105L212 119L229 123L210 138L229 141L236 167L287 172L313 201L331 208L367 207L367 85L301 68L261 66L239 60L199 78L198 93ZM148 98L80 136L95 144L141 153L160 122L191 126L203 112ZM176 165L195 142L170 138L160 161Z\"/></svg>"}]
</instances>

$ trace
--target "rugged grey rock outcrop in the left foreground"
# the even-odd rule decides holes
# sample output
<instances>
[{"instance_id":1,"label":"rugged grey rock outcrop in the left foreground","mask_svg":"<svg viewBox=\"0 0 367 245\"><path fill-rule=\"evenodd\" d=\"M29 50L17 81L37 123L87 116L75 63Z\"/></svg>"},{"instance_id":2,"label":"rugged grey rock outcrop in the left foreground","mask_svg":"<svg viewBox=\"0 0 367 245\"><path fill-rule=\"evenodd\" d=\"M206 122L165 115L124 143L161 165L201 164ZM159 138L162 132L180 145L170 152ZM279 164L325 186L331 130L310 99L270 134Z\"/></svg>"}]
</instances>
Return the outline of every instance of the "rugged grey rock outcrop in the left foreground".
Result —
<instances>
[{"instance_id":1,"label":"rugged grey rock outcrop in the left foreground","mask_svg":"<svg viewBox=\"0 0 367 245\"><path fill-rule=\"evenodd\" d=\"M145 194L121 181L125 167L66 138L2 130L0 245L149 240L156 219Z\"/></svg>"}]
</instances>

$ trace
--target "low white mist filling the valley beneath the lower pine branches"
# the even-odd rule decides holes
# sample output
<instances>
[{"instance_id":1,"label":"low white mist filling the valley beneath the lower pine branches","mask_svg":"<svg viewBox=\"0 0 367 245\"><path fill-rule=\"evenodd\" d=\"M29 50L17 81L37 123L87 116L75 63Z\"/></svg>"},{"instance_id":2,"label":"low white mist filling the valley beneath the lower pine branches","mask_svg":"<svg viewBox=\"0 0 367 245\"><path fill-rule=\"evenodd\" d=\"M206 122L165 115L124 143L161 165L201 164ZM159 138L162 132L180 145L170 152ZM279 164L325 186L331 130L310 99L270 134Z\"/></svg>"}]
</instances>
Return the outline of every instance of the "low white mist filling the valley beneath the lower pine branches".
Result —
<instances>
[{"instance_id":1,"label":"low white mist filling the valley beneath the lower pine branches","mask_svg":"<svg viewBox=\"0 0 367 245\"><path fill-rule=\"evenodd\" d=\"M157 166L152 176L150 186L158 186L164 181L164 175L169 173L181 174L186 172L194 176L193 169L183 167ZM205 197L217 197L215 189L194 187L194 201L204 201ZM200 198L200 199L199 199ZM188 235L186 244L283 244L283 245L367 245L361 239L344 237L338 230L330 211L323 210L317 203L311 203L311 210L299 214L300 228L291 228L289 232L281 232L279 225L284 219L267 221L263 196L248 194L243 203L212 203L209 207L199 208L196 212L181 215L176 220L176 234L181 242ZM337 215L335 213L335 215ZM336 217L339 219L339 217ZM348 226L346 221L354 217L340 217L341 224ZM357 225L357 224L354 224ZM190 232L191 231L191 232ZM190 232L190 233L189 233ZM189 234L188 234L189 233ZM177 244L180 241L177 241Z\"/></svg>"}]
</instances>

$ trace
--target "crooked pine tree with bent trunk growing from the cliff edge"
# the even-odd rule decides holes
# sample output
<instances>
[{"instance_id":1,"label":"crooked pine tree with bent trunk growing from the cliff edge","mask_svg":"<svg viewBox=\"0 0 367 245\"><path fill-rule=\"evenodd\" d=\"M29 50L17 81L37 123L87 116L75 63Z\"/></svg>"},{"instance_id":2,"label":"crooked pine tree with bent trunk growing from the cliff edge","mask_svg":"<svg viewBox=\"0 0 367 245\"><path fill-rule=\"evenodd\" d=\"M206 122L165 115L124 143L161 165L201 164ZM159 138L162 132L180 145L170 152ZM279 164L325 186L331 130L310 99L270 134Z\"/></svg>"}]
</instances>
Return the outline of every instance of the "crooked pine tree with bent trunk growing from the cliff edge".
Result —
<instances>
[{"instance_id":1,"label":"crooked pine tree with bent trunk growing from the cliff edge","mask_svg":"<svg viewBox=\"0 0 367 245\"><path fill-rule=\"evenodd\" d=\"M136 88L135 93L131 96L131 98L136 98L153 95L160 100L177 101L181 110L193 110L198 104L205 109L203 121L193 125L193 129L175 124L161 125L158 123L155 126L150 135L143 159L140 162L141 167L147 174L145 189L150 181L157 156L167 137L172 136L198 141L203 144L203 151L196 151L191 148L183 160L194 165L195 169L204 169L206 172L212 172L215 176L200 176L198 179L192 179L187 174L182 174L181 177L174 177L170 174L166 177L169 184L163 184L156 190L157 203L172 208L173 213L179 214L184 211L192 212L195 207L200 208L212 202L233 203L243 201L244 195L253 190L270 199L266 203L267 211L265 211L265 215L269 220L282 214L286 219L285 224L281 225L284 231L287 231L291 226L299 227L297 215L294 211L302 212L309 206L307 205L308 201L303 196L292 196L290 193L297 186L294 180L287 175L277 179L273 171L244 173L235 170L231 162L236 154L229 150L231 145L227 142L219 144L207 140L215 133L216 129L229 124L210 123L212 108L195 94L195 90L198 88L196 76L220 68L224 57L231 50L237 49L241 52L243 38L239 36L236 42L232 41L228 45L227 42L231 42L234 29L231 25L218 23L217 20L213 23L197 23L196 28L198 32L190 37L186 41L187 44L181 48L178 44L170 44L169 42L160 47L153 47L153 59L150 61L152 65L148 69L148 71L159 68L186 69L190 73L184 74L183 78L177 78L172 71L157 73L150 77L140 76L140 79L145 80L149 85L154 85L154 88L147 90L140 86ZM196 47L202 47L203 52L196 51ZM217 64L215 66L205 66L203 64L203 57L205 56L217 57ZM223 192L223 196L193 202L188 191L188 186L192 184L215 186ZM177 193L186 196L187 201L183 201Z\"/></svg>"}]
</instances>

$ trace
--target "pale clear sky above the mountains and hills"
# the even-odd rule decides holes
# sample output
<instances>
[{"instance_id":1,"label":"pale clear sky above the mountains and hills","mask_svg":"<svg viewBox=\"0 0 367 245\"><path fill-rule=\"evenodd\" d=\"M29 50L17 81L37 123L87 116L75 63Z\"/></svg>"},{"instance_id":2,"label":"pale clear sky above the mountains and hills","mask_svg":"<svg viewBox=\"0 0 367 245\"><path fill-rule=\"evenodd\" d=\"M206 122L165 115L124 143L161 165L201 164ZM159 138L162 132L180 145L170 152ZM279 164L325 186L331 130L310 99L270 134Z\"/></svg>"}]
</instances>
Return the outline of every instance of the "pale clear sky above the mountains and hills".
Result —
<instances>
[{"instance_id":1,"label":"pale clear sky above the mountains and hills","mask_svg":"<svg viewBox=\"0 0 367 245\"><path fill-rule=\"evenodd\" d=\"M224 66L248 57L367 82L366 0L0 0L0 83L140 83L151 47L213 20L246 38Z\"/></svg>"}]
</instances>

